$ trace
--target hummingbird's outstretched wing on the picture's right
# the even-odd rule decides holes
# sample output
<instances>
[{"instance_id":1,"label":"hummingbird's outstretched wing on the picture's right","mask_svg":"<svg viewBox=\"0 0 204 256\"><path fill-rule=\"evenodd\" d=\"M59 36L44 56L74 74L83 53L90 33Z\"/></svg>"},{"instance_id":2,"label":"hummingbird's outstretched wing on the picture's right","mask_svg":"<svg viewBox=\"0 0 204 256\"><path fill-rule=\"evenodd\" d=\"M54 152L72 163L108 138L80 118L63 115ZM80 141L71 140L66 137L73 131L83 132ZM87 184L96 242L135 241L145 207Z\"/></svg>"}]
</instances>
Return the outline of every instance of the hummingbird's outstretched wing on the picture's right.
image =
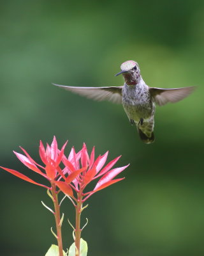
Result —
<instances>
[{"instance_id":1,"label":"hummingbird's outstretched wing on the picture's right","mask_svg":"<svg viewBox=\"0 0 204 256\"><path fill-rule=\"evenodd\" d=\"M163 106L168 102L177 102L184 99L192 93L195 88L195 86L173 89L149 87L149 92L154 102L159 106Z\"/></svg>"}]
</instances>

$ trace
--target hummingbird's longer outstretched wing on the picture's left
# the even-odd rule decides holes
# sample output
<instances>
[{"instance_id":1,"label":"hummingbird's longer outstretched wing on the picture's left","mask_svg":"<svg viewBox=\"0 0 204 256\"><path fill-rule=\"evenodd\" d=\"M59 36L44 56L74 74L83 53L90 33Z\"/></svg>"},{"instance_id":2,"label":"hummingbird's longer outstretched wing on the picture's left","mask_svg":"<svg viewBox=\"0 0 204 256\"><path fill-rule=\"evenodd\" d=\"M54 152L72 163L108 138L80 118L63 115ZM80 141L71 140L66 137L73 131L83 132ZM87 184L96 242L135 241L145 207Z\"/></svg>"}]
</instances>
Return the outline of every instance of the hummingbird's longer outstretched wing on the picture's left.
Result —
<instances>
[{"instance_id":1,"label":"hummingbird's longer outstretched wing on the picture's left","mask_svg":"<svg viewBox=\"0 0 204 256\"><path fill-rule=\"evenodd\" d=\"M79 95L85 96L89 99L94 100L108 100L113 103L122 102L122 86L110 86L110 87L75 87L66 86L60 84L54 84L56 86L62 87L65 90L71 91L73 93L78 93Z\"/></svg>"}]
</instances>

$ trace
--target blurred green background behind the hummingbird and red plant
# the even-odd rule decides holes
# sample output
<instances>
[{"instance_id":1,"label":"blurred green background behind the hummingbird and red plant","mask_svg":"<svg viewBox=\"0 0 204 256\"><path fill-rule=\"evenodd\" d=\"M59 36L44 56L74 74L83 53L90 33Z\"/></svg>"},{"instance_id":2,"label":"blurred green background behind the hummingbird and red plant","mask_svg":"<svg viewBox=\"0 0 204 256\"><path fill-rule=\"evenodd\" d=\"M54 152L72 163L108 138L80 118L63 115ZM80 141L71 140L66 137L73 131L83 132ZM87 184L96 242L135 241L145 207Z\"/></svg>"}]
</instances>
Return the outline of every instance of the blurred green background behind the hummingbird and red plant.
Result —
<instances>
[{"instance_id":1,"label":"blurred green background behind the hummingbird and red plant","mask_svg":"<svg viewBox=\"0 0 204 256\"><path fill-rule=\"evenodd\" d=\"M13 154L38 143L122 154L126 179L99 191L82 214L89 256L204 255L204 2L1 1L1 165L39 180ZM152 145L138 138L122 106L94 102L51 83L117 86L120 64L136 60L149 86L197 85L190 97L156 110ZM122 175L121 175L122 177ZM1 171L1 255L45 255L55 238L43 188ZM62 211L64 248L74 211Z\"/></svg>"}]
</instances>

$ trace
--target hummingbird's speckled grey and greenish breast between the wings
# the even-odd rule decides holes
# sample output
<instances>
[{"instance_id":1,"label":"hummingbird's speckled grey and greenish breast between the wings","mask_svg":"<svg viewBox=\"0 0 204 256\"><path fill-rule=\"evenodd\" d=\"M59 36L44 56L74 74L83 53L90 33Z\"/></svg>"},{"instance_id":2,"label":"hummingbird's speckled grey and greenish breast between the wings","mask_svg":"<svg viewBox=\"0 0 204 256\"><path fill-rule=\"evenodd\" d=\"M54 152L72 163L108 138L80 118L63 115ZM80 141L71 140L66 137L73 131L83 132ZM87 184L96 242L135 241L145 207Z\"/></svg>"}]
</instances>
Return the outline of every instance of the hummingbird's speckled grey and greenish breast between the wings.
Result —
<instances>
[{"instance_id":1,"label":"hummingbird's speckled grey and greenish breast between the wings","mask_svg":"<svg viewBox=\"0 0 204 256\"><path fill-rule=\"evenodd\" d=\"M152 102L149 87L142 83L128 85L124 84L122 89L122 105L129 119L137 124L140 118L149 120L154 116L155 106Z\"/></svg>"}]
</instances>

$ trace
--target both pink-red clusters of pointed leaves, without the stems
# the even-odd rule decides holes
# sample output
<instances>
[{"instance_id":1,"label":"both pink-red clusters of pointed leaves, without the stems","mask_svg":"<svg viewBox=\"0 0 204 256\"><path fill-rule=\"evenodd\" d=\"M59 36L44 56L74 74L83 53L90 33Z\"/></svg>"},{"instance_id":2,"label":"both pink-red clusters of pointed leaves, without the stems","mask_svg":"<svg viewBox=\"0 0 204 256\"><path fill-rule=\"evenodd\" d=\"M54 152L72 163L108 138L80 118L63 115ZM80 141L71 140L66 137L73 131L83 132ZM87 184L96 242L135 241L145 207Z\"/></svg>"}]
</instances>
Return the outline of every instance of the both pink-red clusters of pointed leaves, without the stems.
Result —
<instances>
[{"instance_id":1,"label":"both pink-red clusters of pointed leaves, without the stems","mask_svg":"<svg viewBox=\"0 0 204 256\"><path fill-rule=\"evenodd\" d=\"M89 196L91 196L93 193L96 193L97 191L124 179L113 179L116 175L128 167L128 165L126 165L112 169L113 165L117 163L120 156L110 161L110 163L106 164L104 167L108 157L108 152L106 152L103 156L98 156L95 159L94 148L92 148L91 156L89 157L87 147L84 143L82 150L75 152L75 148L73 147L71 148L69 156L66 157L64 154L64 148L66 147L67 143L68 141L66 141L61 150L59 150L57 147L57 140L54 136L52 144L47 144L45 149L43 143L40 141L39 153L41 161L43 164L45 164L45 166L36 163L36 161L34 161L34 159L29 156L29 154L22 147L20 148L24 152L24 155L14 152L25 166L49 180L51 187L35 182L16 170L4 168L2 166L1 168L19 177L20 179L47 189L52 189L52 184L55 184L64 194L70 196L74 200L77 200L77 198L75 198L74 191L76 193L80 192L80 195L84 196L82 202L87 200L87 198L89 198ZM61 163L63 164L63 168L60 166L62 165ZM87 184L97 178L100 179L98 180L94 189L87 193L83 193Z\"/></svg>"}]
</instances>

